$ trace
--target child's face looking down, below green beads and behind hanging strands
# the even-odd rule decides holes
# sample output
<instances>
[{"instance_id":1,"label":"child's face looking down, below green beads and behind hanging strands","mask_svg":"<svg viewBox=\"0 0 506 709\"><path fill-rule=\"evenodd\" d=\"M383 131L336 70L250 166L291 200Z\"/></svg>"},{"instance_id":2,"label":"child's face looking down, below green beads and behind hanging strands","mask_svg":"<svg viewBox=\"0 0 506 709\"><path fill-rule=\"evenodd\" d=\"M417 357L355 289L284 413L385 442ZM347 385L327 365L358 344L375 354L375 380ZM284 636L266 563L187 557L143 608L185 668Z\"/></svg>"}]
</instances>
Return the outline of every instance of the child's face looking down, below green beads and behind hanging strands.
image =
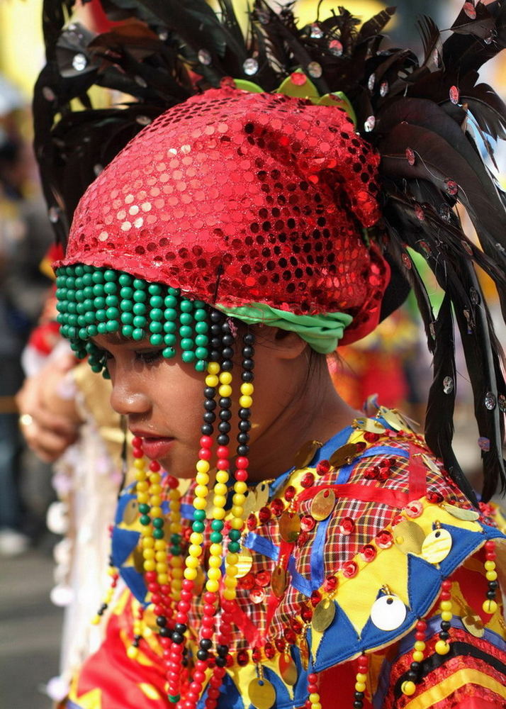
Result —
<instances>
[{"instance_id":1,"label":"child's face looking down, below green beads and behind hanging strands","mask_svg":"<svg viewBox=\"0 0 506 709\"><path fill-rule=\"evenodd\" d=\"M113 384L111 406L127 417L130 431L144 439L147 457L157 459L179 478L192 478L200 448L205 375L179 357L165 359L162 350L149 340L135 342L116 335L98 335L94 342L108 356ZM277 442L269 440L270 429L286 409L293 388L293 369L279 367L279 362L269 343L257 342L249 458L251 467L257 460L260 469L269 462L268 451L279 449L279 438ZM238 418L233 414L237 412L240 382L237 367L232 372L231 457L237 446ZM215 426L218 423L217 418Z\"/></svg>"}]
</instances>

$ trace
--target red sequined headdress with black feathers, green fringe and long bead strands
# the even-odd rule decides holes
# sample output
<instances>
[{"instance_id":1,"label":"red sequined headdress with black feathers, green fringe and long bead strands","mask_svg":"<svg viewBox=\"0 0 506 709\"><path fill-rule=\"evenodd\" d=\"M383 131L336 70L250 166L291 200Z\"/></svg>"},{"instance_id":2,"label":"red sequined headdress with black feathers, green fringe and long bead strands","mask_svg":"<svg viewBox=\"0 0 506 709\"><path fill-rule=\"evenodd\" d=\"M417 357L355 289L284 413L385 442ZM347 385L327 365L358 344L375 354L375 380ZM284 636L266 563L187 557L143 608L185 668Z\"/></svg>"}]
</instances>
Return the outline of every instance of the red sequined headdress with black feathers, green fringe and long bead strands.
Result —
<instances>
[{"instance_id":1,"label":"red sequined headdress with black feathers, green fringe and long bead strands","mask_svg":"<svg viewBox=\"0 0 506 709\"><path fill-rule=\"evenodd\" d=\"M62 240L84 187L147 125L80 202L57 285L63 333L79 354L90 354L96 369L103 365L89 337L116 330L134 339L149 335L166 357L180 347L184 361L207 369L193 534L179 575L184 581L174 620L168 624L163 604L157 608L176 701L219 418L211 535L216 559L206 582L206 632L186 695L189 706L206 669L221 577L235 343L227 316L280 326L289 320L314 342L303 318L322 318L317 337L327 337L325 318L339 312L339 328L347 327L351 340L398 306L409 284L434 354L427 442L474 499L451 450L455 318L483 444L484 498L505 480L501 350L474 270L478 264L495 281L504 312L505 201L480 150L493 160L491 143L505 137L506 108L476 81L480 65L504 45L505 6L466 3L444 43L423 18L419 65L409 50L381 49L380 33L393 9L360 29L344 9L298 28L291 7L277 14L258 0L244 41L230 2L219 5L217 16L203 0L145 0L134 7L115 0L106 9L135 22L91 38L77 25L60 33L60 5L47 2L49 61L35 92L35 142ZM86 94L93 84L137 102L94 110ZM70 110L73 98L84 111ZM479 247L463 233L458 201L473 220ZM425 257L444 290L437 316L410 250ZM235 593L253 354L247 332L225 605ZM141 459L142 441L135 440L135 451ZM138 466L141 523L152 523L154 539L161 540L162 513L149 503L159 483L157 464L150 470ZM148 558L145 569L148 588L159 596L166 570ZM219 643L218 685L226 625Z\"/></svg>"}]
</instances>

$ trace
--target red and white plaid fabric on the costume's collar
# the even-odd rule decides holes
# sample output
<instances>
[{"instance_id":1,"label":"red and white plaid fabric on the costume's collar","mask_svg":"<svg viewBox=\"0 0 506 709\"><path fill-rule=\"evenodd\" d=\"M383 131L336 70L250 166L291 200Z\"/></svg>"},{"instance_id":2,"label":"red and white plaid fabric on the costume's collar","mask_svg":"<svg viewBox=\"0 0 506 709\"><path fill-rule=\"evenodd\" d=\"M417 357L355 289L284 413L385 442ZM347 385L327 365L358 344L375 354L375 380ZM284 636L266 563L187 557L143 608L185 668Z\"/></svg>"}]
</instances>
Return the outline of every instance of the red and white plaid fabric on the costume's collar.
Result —
<instances>
[{"instance_id":1,"label":"red and white plaid fabric on the costume's collar","mask_svg":"<svg viewBox=\"0 0 506 709\"><path fill-rule=\"evenodd\" d=\"M368 445L356 459L347 486L360 486L360 489L365 491L381 489L409 493L410 471L413 467L410 445L415 445L417 456L425 454L431 461L430 466L424 463L427 495L432 496L433 501L444 500L457 506L468 507L466 497L449 479L441 464L434 459L422 437L411 433L388 431L384 440L382 438L381 441ZM373 450L381 451L384 447L388 448L388 452L373 453ZM315 474L312 491L338 484L340 469L331 468L322 476L316 474L314 468L308 468L307 471ZM283 497L283 491L286 491L296 478L300 479L300 471L294 471L288 477L283 489L278 491L279 497ZM328 576L343 569L344 565L374 540L402 509L390 503L367 501L359 497L360 495L356 498L337 495L330 517L317 522L312 530L299 537L291 549L288 586L279 603L271 596L271 579L278 565L281 545L279 519L271 515L270 520L258 522L257 527L244 535L244 545L249 547L252 554L252 566L249 573L240 579L237 588L237 605L242 612L242 618L239 618L239 627L235 630L232 650L252 649L256 645L262 647L266 641L268 644L275 643L278 647L283 641L295 642L296 635L303 627L301 613L305 608L312 607L311 593L317 591ZM182 502L191 506L192 499L192 490L189 489ZM296 499L297 497L294 501ZM311 501L311 498L306 498L298 505L301 515L310 515ZM189 520L185 524L189 529ZM210 520L207 535L209 530ZM272 605L276 605L274 613L269 611ZM191 610L193 627L200 625L201 608L201 598L196 597ZM218 618L217 621L219 627ZM269 627L266 627L267 625Z\"/></svg>"}]
</instances>

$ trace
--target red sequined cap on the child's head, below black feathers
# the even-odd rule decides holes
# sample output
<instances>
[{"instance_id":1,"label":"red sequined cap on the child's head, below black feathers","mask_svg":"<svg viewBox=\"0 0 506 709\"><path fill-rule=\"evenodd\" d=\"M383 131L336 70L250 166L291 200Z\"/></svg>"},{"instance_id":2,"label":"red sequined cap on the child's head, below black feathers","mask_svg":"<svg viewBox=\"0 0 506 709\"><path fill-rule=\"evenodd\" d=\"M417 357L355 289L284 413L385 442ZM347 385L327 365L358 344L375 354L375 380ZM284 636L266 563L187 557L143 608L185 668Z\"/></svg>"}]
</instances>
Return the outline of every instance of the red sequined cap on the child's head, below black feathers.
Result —
<instances>
[{"instance_id":1,"label":"red sequined cap on the child's head, below black feathers","mask_svg":"<svg viewBox=\"0 0 506 709\"><path fill-rule=\"evenodd\" d=\"M125 270L208 303L378 322L388 266L366 247L379 157L338 108L211 89L169 109L77 207L63 264Z\"/></svg>"}]
</instances>

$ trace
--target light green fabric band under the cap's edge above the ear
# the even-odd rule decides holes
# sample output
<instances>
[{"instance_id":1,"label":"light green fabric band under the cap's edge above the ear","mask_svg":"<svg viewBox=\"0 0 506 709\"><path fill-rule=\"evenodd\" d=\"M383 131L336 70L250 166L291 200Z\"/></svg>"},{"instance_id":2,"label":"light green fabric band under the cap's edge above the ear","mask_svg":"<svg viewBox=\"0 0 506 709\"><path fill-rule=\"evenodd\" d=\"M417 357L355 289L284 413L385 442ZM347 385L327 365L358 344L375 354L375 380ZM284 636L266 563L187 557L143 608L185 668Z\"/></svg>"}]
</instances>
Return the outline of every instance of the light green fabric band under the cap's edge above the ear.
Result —
<instances>
[{"instance_id":1,"label":"light green fabric band under the cap's edge above the ear","mask_svg":"<svg viewBox=\"0 0 506 709\"><path fill-rule=\"evenodd\" d=\"M231 318L238 318L249 325L269 325L297 333L313 350L320 354L334 352L341 340L344 328L353 318L347 313L323 313L322 315L294 315L288 311L271 308L265 303L252 303L239 308L216 305L215 308Z\"/></svg>"}]
</instances>

